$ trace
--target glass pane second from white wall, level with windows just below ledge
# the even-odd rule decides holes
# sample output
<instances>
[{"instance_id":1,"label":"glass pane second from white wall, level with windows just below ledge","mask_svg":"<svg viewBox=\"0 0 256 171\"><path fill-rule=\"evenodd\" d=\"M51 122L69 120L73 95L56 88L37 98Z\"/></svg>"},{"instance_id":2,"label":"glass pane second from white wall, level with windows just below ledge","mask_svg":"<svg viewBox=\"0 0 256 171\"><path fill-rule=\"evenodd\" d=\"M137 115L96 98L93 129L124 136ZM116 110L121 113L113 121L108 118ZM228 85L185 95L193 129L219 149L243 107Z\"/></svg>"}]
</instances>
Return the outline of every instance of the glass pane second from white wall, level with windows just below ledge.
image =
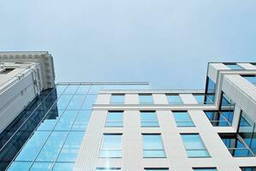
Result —
<instances>
[{"instance_id":1,"label":"glass pane second from white wall, level with windows just below ledge","mask_svg":"<svg viewBox=\"0 0 256 171\"><path fill-rule=\"evenodd\" d=\"M65 110L54 129L59 131L69 131L77 114L78 110Z\"/></svg>"}]
</instances>

